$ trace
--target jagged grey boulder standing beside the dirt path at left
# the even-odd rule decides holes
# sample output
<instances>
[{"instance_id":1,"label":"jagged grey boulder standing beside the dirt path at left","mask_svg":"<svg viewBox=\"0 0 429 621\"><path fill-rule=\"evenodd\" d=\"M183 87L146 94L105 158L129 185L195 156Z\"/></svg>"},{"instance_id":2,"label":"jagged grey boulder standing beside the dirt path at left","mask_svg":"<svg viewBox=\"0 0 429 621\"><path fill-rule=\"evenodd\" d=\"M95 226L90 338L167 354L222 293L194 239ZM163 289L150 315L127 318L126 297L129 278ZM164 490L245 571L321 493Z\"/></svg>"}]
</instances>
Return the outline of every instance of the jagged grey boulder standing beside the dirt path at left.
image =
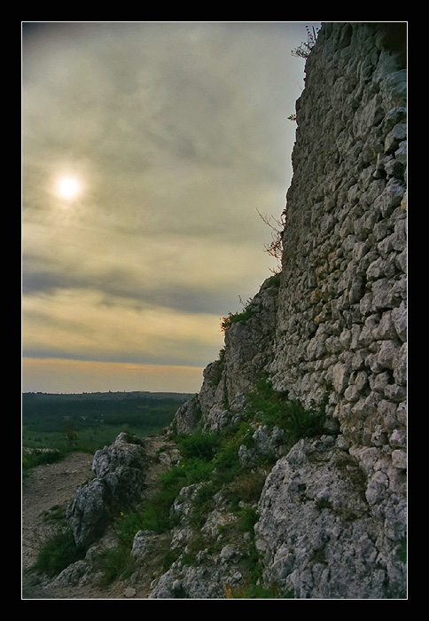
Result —
<instances>
[{"instance_id":1,"label":"jagged grey boulder standing beside the dirt path at left","mask_svg":"<svg viewBox=\"0 0 429 621\"><path fill-rule=\"evenodd\" d=\"M67 520L79 547L100 537L113 511L132 507L144 489L143 441L121 433L110 446L97 451L95 478L83 485L67 507Z\"/></svg>"}]
</instances>

